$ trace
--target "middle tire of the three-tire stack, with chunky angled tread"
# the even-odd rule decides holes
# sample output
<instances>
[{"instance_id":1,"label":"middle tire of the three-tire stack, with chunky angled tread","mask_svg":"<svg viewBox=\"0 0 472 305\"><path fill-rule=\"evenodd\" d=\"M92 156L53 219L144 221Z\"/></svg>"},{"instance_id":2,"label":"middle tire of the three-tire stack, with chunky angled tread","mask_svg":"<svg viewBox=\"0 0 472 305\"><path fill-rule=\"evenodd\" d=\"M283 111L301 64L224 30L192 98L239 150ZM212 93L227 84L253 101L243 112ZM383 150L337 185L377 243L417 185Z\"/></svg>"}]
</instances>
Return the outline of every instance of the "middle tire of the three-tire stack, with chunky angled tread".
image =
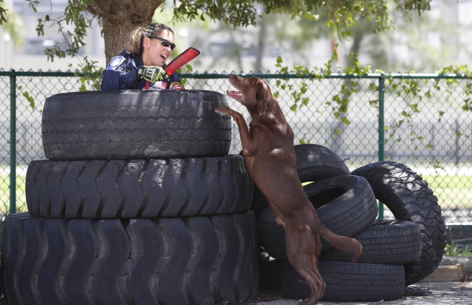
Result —
<instances>
[{"instance_id":1,"label":"middle tire of the three-tire stack, with chunky angled tread","mask_svg":"<svg viewBox=\"0 0 472 305\"><path fill-rule=\"evenodd\" d=\"M240 155L150 160L35 160L26 174L32 216L153 218L247 211L253 182Z\"/></svg>"}]
</instances>

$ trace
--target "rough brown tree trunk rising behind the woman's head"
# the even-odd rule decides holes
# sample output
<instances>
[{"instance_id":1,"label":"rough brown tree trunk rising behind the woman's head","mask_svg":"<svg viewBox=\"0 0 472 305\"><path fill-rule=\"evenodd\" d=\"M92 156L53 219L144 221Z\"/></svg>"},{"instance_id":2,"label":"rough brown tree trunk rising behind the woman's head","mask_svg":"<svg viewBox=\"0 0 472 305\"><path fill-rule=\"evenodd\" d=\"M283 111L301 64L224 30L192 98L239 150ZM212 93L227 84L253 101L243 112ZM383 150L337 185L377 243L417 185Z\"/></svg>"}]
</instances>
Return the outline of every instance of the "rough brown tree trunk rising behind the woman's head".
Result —
<instances>
[{"instance_id":1,"label":"rough brown tree trunk rising behind the woman's head","mask_svg":"<svg viewBox=\"0 0 472 305\"><path fill-rule=\"evenodd\" d=\"M154 11L163 1L95 0L89 3L89 11L102 22L107 63L126 48L133 29L151 23Z\"/></svg>"}]
</instances>

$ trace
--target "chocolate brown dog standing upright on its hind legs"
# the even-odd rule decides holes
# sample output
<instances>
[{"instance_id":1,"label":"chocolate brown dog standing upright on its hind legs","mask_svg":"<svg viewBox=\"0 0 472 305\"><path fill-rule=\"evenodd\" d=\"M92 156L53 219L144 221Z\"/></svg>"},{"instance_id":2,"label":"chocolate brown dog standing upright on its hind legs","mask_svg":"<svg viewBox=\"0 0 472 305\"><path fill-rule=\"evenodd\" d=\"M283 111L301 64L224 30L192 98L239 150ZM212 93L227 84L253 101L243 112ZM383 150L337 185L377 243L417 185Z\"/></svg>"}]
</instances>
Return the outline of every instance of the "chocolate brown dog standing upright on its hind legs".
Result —
<instances>
[{"instance_id":1,"label":"chocolate brown dog standing upright on its hind legs","mask_svg":"<svg viewBox=\"0 0 472 305\"><path fill-rule=\"evenodd\" d=\"M300 304L316 304L326 286L318 271L320 235L336 249L353 252L353 261L359 258L362 245L334 234L320 222L296 172L294 132L269 86L254 76L232 74L229 80L238 91L227 91L227 95L246 106L252 117L250 129L243 116L230 107L220 106L215 111L236 121L249 174L277 215L277 224L285 228L290 263L311 287L311 296Z\"/></svg>"}]
</instances>

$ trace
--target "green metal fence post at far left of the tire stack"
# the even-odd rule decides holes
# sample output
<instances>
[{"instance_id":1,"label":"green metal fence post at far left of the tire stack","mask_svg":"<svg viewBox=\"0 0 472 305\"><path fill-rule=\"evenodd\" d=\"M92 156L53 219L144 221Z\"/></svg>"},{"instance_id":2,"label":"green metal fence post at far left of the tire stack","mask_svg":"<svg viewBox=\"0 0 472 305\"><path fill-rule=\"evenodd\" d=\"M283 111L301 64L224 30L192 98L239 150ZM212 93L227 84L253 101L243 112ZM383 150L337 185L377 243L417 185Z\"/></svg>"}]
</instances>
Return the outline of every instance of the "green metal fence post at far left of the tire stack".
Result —
<instances>
[{"instance_id":1,"label":"green metal fence post at far left of the tire stack","mask_svg":"<svg viewBox=\"0 0 472 305\"><path fill-rule=\"evenodd\" d=\"M16 74L10 74L10 214L16 212Z\"/></svg>"}]
</instances>

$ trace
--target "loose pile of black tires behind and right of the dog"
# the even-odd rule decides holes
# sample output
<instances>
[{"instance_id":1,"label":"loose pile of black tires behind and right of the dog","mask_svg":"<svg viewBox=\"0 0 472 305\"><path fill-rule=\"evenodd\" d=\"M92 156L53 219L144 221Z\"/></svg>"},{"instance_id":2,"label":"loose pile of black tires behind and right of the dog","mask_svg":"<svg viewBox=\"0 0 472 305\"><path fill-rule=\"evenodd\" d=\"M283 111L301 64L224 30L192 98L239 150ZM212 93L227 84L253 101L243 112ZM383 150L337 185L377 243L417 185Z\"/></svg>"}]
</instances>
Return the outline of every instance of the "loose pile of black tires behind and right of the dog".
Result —
<instances>
[{"instance_id":1,"label":"loose pile of black tires behind and right of the dog","mask_svg":"<svg viewBox=\"0 0 472 305\"><path fill-rule=\"evenodd\" d=\"M401 163L383 161L352 173L332 150L296 145L297 171L322 223L363 246L357 262L332 249L322 238L318 268L326 283L321 300L377 302L403 296L405 286L424 279L439 265L445 247L441 207L426 181ZM255 193L257 194L257 190ZM375 219L376 199L396 219ZM254 197L258 213L260 287L281 290L287 297L308 298L311 289L289 263L285 231L266 202Z\"/></svg>"}]
</instances>

